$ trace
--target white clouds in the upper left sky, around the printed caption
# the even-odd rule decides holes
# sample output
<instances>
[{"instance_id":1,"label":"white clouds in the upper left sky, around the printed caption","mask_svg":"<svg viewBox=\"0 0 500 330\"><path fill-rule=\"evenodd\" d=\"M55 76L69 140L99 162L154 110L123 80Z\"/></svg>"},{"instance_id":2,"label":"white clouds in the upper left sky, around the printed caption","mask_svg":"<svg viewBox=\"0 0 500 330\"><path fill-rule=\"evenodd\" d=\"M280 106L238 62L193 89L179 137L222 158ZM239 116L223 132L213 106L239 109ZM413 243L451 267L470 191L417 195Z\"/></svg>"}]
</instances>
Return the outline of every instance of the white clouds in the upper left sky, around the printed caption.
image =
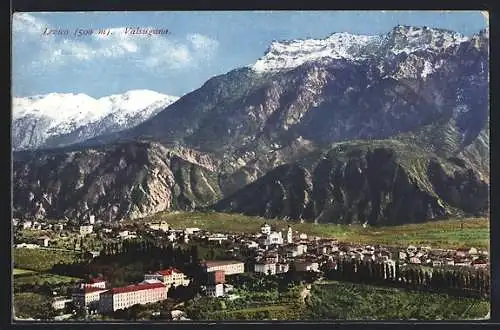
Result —
<instances>
[{"instance_id":1,"label":"white clouds in the upper left sky, around the printed caption","mask_svg":"<svg viewBox=\"0 0 500 330\"><path fill-rule=\"evenodd\" d=\"M106 29L106 34L75 36L42 35L54 29L38 15L16 13L13 16L14 51L31 53L30 69L49 70L82 62L130 61L145 70L182 69L204 63L213 56L219 43L202 34L175 39L170 34L130 34L125 27ZM141 27L142 30L152 27ZM111 63L113 64L113 63Z\"/></svg>"}]
</instances>

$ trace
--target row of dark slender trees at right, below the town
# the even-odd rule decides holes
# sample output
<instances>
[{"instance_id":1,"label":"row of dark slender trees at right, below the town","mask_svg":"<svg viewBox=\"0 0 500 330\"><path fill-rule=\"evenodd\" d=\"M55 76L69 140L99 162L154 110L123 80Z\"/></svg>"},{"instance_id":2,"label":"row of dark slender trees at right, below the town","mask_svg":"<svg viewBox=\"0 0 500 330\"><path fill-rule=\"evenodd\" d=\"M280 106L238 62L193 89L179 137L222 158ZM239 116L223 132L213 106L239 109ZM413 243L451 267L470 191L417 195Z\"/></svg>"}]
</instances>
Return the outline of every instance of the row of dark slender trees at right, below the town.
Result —
<instances>
[{"instance_id":1,"label":"row of dark slender trees at right, below the town","mask_svg":"<svg viewBox=\"0 0 500 330\"><path fill-rule=\"evenodd\" d=\"M484 270L466 268L424 271L422 268L394 266L374 261L340 260L336 268L325 268L329 279L366 284L390 284L415 290L447 292L487 297L490 275Z\"/></svg>"}]
</instances>

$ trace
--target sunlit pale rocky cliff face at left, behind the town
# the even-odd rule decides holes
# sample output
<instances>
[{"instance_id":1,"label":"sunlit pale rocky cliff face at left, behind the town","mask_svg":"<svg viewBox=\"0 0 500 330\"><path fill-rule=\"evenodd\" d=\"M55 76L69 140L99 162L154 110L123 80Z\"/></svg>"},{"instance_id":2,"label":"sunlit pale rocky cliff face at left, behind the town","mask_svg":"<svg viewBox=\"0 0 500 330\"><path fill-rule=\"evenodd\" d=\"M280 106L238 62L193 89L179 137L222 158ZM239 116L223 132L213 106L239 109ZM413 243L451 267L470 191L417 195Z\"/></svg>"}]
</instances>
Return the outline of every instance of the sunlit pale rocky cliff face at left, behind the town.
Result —
<instances>
[{"instance_id":1,"label":"sunlit pale rocky cliff face at left, behind the town","mask_svg":"<svg viewBox=\"0 0 500 330\"><path fill-rule=\"evenodd\" d=\"M138 218L220 198L217 175L158 144L24 152L14 161L14 213L40 218Z\"/></svg>"}]
</instances>

